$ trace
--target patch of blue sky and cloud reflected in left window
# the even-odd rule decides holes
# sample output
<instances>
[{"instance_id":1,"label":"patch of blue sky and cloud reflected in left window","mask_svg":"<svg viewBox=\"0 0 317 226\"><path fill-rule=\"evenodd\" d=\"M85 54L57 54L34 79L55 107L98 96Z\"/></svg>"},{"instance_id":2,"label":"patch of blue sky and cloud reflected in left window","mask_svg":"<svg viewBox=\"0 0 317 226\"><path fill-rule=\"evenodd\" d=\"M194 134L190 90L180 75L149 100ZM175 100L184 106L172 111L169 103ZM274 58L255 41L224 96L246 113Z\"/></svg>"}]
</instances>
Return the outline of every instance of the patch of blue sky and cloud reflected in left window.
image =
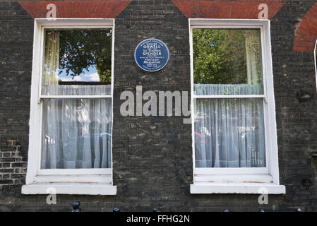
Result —
<instances>
[{"instance_id":1,"label":"patch of blue sky and cloud reflected in left window","mask_svg":"<svg viewBox=\"0 0 317 226\"><path fill-rule=\"evenodd\" d=\"M67 75L66 69L64 69L59 73L58 77L63 82L100 82L95 65L90 66L88 70L84 69L83 73L75 77Z\"/></svg>"}]
</instances>

